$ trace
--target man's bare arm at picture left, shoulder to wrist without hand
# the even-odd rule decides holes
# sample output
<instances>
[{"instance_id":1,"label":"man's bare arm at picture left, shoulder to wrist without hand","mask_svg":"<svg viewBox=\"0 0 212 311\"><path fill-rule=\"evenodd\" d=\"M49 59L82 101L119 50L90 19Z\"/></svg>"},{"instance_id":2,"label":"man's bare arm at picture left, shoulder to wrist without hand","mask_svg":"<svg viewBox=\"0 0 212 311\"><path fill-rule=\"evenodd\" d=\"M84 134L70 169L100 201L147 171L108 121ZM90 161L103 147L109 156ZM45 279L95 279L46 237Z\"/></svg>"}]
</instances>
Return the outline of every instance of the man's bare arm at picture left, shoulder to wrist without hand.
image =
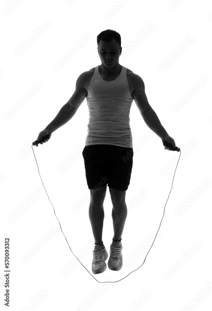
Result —
<instances>
[{"instance_id":1,"label":"man's bare arm at picture left, shoulder to wrist without hand","mask_svg":"<svg viewBox=\"0 0 212 311\"><path fill-rule=\"evenodd\" d=\"M52 122L47 125L47 131L51 133L56 131L74 116L77 109L86 97L85 78L86 72L83 72L76 81L76 89L70 100L60 109Z\"/></svg>"}]
</instances>

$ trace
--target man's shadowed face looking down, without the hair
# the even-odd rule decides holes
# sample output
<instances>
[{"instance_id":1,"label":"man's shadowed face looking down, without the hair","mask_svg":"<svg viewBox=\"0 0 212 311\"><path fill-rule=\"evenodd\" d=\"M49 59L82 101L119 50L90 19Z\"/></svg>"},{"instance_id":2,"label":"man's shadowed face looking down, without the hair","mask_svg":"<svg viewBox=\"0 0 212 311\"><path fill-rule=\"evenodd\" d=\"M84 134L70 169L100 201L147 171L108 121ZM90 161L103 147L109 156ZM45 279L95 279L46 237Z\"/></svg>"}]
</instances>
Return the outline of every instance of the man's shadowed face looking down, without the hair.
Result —
<instances>
[{"instance_id":1,"label":"man's shadowed face looking down, without the hair","mask_svg":"<svg viewBox=\"0 0 212 311\"><path fill-rule=\"evenodd\" d=\"M113 67L119 61L121 50L122 48L120 48L115 39L112 39L111 41L100 40L98 44L98 54L101 59L101 63L105 67ZM108 63L108 61L111 62Z\"/></svg>"}]
</instances>

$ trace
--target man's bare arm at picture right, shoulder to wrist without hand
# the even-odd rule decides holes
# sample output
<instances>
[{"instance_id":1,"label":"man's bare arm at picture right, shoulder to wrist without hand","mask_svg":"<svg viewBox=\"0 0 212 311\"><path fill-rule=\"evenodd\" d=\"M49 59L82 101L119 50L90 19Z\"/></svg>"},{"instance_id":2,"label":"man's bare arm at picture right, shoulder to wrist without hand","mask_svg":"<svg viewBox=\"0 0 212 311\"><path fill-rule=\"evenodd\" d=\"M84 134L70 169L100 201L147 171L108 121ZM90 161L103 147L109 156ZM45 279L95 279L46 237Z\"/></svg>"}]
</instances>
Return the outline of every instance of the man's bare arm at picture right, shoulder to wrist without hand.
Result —
<instances>
[{"instance_id":1,"label":"man's bare arm at picture right, shoulder to wrist without hand","mask_svg":"<svg viewBox=\"0 0 212 311\"><path fill-rule=\"evenodd\" d=\"M145 93L144 82L138 75L134 76L133 98L147 126L155 132L161 139L169 136L165 128L160 123L158 116L150 106Z\"/></svg>"}]
</instances>

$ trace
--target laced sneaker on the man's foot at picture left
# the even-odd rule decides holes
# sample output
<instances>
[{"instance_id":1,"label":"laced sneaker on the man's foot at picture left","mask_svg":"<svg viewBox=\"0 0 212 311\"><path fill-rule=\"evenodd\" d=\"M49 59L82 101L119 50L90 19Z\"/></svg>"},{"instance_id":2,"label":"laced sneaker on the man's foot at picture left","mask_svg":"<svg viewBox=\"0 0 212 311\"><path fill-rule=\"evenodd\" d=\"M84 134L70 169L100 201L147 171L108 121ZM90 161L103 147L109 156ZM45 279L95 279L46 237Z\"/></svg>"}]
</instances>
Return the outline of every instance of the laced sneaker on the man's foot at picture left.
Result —
<instances>
[{"instance_id":1,"label":"laced sneaker on the man's foot at picture left","mask_svg":"<svg viewBox=\"0 0 212 311\"><path fill-rule=\"evenodd\" d=\"M94 246L93 260L92 260L92 272L94 274L102 273L106 269L106 259L108 257L108 252L105 248L100 245Z\"/></svg>"}]
</instances>

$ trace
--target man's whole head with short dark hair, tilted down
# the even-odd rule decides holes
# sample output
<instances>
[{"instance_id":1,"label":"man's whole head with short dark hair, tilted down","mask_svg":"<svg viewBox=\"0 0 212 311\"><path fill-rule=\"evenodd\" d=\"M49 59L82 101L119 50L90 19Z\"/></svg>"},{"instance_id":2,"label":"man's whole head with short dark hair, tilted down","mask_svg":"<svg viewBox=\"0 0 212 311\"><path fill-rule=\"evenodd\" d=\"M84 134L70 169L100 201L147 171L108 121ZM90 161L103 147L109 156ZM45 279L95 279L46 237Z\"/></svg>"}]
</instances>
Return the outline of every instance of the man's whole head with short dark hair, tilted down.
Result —
<instances>
[{"instance_id":1,"label":"man's whole head with short dark hair, tilted down","mask_svg":"<svg viewBox=\"0 0 212 311\"><path fill-rule=\"evenodd\" d=\"M97 45L101 63L106 67L113 67L119 61L122 51L120 34L115 30L104 30L97 35Z\"/></svg>"}]
</instances>

